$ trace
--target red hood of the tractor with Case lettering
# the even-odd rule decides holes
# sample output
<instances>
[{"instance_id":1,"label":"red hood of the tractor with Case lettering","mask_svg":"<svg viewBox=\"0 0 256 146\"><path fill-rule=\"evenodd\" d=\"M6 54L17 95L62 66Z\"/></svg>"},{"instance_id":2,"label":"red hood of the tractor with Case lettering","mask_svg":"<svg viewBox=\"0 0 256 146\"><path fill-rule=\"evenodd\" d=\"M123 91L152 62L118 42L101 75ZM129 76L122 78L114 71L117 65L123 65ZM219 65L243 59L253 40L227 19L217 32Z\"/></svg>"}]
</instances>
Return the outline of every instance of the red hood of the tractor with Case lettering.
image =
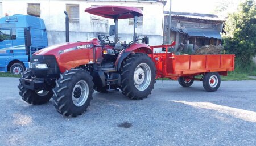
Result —
<instances>
[{"instance_id":1,"label":"red hood of the tractor with Case lettering","mask_svg":"<svg viewBox=\"0 0 256 146\"><path fill-rule=\"evenodd\" d=\"M80 65L92 64L96 62L97 60L94 58L100 58L101 50L96 49L95 53L94 45L100 45L97 39L89 40L87 42L68 42L53 45L36 51L36 53L32 55L32 59L50 55L54 56L60 68L60 72L64 72L65 70L70 70L71 68L75 68Z\"/></svg>"}]
</instances>

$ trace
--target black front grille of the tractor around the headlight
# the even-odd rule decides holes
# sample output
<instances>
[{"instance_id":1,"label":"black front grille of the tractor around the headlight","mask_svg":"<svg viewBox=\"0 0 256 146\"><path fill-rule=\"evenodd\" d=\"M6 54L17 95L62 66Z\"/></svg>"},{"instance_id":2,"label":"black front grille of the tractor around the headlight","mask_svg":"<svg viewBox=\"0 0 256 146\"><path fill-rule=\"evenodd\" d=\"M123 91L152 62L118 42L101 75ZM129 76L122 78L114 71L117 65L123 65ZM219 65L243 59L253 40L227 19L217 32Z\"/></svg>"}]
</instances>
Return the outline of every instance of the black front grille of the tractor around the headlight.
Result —
<instances>
[{"instance_id":1,"label":"black front grille of the tractor around the headlight","mask_svg":"<svg viewBox=\"0 0 256 146\"><path fill-rule=\"evenodd\" d=\"M47 69L31 68L32 73L37 78L58 78L60 69L53 55L32 55L31 63L47 63Z\"/></svg>"}]
</instances>

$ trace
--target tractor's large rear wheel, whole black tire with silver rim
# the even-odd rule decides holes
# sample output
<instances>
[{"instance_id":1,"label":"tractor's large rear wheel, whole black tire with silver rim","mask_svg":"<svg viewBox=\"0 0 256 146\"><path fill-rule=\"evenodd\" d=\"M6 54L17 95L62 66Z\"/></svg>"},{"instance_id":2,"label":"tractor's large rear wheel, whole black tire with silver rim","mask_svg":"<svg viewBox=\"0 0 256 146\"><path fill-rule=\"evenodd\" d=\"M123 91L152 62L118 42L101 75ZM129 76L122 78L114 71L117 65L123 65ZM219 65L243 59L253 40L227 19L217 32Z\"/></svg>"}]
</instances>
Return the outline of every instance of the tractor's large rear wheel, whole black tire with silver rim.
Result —
<instances>
[{"instance_id":1,"label":"tractor's large rear wheel, whole black tire with silver rim","mask_svg":"<svg viewBox=\"0 0 256 146\"><path fill-rule=\"evenodd\" d=\"M129 55L121 67L121 90L130 99L146 98L154 88L155 65L147 54Z\"/></svg>"}]
</instances>

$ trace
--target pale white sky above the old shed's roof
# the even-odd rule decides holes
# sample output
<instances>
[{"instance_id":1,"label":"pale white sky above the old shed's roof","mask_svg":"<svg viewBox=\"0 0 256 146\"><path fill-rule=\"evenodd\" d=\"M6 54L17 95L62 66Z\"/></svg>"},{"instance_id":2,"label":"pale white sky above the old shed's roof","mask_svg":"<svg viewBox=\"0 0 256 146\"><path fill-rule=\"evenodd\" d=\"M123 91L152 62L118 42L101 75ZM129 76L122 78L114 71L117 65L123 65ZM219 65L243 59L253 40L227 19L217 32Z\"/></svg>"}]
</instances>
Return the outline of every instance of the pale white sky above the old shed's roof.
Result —
<instances>
[{"instance_id":1,"label":"pale white sky above the old shed's roof","mask_svg":"<svg viewBox=\"0 0 256 146\"><path fill-rule=\"evenodd\" d=\"M240 0L172 0L172 11L213 14L214 9L224 1L235 3L229 5L230 11L234 10L234 7L240 2ZM167 0L164 10L169 11L169 9L170 0Z\"/></svg>"}]
</instances>

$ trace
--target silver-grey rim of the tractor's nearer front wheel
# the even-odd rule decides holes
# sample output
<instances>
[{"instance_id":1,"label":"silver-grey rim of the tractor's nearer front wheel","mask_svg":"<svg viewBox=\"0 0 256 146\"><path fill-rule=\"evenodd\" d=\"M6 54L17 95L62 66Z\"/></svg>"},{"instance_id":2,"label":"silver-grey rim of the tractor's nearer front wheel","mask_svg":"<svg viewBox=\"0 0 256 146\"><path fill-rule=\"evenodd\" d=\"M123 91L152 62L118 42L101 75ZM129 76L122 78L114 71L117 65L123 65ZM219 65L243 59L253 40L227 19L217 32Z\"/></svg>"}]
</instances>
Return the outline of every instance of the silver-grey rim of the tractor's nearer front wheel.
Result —
<instances>
[{"instance_id":1,"label":"silver-grey rim of the tractor's nearer front wheel","mask_svg":"<svg viewBox=\"0 0 256 146\"><path fill-rule=\"evenodd\" d=\"M81 93L80 93L81 92ZM89 86L84 80L76 83L72 91L72 101L76 106L82 106L87 101L89 95Z\"/></svg>"}]
</instances>

